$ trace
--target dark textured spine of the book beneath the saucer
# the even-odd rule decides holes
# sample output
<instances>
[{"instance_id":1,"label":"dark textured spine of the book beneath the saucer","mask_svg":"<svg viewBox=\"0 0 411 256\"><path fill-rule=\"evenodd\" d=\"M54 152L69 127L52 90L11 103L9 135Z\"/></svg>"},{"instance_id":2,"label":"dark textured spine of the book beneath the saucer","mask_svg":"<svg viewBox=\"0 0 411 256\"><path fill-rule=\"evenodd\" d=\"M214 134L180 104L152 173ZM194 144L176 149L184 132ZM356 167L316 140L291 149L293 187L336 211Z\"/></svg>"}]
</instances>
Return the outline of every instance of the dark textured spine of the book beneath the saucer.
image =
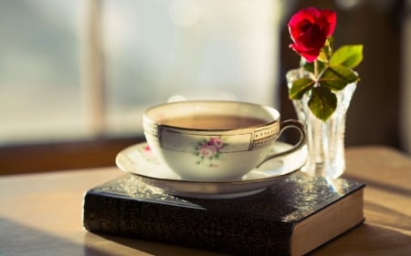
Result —
<instances>
[{"instance_id":1,"label":"dark textured spine of the book beneath the saucer","mask_svg":"<svg viewBox=\"0 0 411 256\"><path fill-rule=\"evenodd\" d=\"M91 231L236 255L290 255L293 224L184 208L88 191L83 225Z\"/></svg>"}]
</instances>

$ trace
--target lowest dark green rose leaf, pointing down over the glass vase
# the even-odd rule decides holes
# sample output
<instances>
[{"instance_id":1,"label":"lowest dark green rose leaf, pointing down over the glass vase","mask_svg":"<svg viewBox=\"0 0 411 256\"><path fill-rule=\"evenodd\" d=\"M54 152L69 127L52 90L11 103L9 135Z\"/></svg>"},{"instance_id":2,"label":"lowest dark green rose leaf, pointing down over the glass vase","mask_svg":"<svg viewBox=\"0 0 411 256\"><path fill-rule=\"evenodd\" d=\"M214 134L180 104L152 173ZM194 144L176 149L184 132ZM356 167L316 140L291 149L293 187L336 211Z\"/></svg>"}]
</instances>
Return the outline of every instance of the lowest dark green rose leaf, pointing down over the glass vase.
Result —
<instances>
[{"instance_id":1,"label":"lowest dark green rose leaf, pointing down over the glass vase","mask_svg":"<svg viewBox=\"0 0 411 256\"><path fill-rule=\"evenodd\" d=\"M337 108L337 97L329 87L313 87L309 108L315 117L326 121Z\"/></svg>"}]
</instances>

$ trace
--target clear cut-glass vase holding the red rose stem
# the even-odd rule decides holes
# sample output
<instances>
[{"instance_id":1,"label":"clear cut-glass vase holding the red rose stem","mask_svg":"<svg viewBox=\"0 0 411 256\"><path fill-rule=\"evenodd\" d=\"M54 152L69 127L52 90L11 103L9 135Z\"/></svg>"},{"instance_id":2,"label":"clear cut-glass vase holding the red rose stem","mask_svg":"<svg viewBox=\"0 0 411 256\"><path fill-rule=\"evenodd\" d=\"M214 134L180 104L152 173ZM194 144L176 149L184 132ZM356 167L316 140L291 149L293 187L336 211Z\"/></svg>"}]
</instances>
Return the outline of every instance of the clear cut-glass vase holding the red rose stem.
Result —
<instances>
[{"instance_id":1,"label":"clear cut-glass vase holding the red rose stem","mask_svg":"<svg viewBox=\"0 0 411 256\"><path fill-rule=\"evenodd\" d=\"M300 77L311 77L312 74L302 68L287 72L288 87ZM345 117L356 88L356 82L335 92L337 108L325 122L316 118L308 107L309 95L293 100L294 108L301 122L307 126L307 146L309 158L302 171L309 175L320 175L332 179L342 175L345 169L344 133Z\"/></svg>"}]
</instances>

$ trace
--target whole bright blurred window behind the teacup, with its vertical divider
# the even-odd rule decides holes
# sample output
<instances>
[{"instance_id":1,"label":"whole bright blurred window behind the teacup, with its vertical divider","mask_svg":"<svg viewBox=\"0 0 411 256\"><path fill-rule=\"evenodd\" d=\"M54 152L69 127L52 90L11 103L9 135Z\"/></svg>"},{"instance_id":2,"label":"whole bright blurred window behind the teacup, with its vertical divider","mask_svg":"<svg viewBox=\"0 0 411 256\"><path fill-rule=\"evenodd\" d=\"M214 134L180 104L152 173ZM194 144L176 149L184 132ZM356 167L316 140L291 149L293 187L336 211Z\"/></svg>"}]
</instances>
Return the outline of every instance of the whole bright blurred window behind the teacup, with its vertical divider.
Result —
<instances>
[{"instance_id":1,"label":"whole bright blurred window behind the teacup, with its vertical divider","mask_svg":"<svg viewBox=\"0 0 411 256\"><path fill-rule=\"evenodd\" d=\"M278 107L281 1L0 1L0 145L141 135L181 98Z\"/></svg>"}]
</instances>

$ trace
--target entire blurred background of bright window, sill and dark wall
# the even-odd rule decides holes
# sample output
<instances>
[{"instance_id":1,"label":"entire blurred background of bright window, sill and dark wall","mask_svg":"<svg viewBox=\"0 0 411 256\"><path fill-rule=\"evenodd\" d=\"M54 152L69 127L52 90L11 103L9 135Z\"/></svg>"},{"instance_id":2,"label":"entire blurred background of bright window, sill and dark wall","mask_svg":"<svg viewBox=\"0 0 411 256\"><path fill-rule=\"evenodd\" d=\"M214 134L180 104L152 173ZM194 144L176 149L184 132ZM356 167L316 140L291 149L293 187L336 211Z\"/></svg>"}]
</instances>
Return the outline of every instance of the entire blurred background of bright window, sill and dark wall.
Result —
<instances>
[{"instance_id":1,"label":"entire blurred background of bright window, sill and dark wall","mask_svg":"<svg viewBox=\"0 0 411 256\"><path fill-rule=\"evenodd\" d=\"M0 174L114 165L175 98L295 118L287 22L309 5L337 12L336 46L364 44L346 146L411 154L409 0L0 0Z\"/></svg>"}]
</instances>

